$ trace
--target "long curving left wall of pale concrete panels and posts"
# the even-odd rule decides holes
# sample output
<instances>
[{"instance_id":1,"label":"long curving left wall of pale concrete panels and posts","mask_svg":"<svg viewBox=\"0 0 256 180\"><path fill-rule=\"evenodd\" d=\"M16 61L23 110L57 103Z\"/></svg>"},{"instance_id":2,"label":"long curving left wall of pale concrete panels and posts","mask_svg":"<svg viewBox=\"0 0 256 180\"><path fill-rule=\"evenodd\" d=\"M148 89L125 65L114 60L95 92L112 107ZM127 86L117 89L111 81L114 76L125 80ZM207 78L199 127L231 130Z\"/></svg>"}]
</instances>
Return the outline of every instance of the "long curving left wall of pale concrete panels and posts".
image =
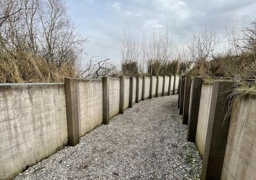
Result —
<instances>
[{"instance_id":1,"label":"long curving left wall of pale concrete panels and posts","mask_svg":"<svg viewBox=\"0 0 256 180\"><path fill-rule=\"evenodd\" d=\"M156 93L157 77L123 77L124 108ZM137 82L138 80L138 82ZM0 180L10 179L119 113L120 78L65 78L64 83L0 84ZM161 77L159 93L163 88ZM165 85L166 87L167 85ZM162 87L162 88L161 88ZM167 88L166 88L167 91ZM144 94L143 94L144 92Z\"/></svg>"}]
</instances>

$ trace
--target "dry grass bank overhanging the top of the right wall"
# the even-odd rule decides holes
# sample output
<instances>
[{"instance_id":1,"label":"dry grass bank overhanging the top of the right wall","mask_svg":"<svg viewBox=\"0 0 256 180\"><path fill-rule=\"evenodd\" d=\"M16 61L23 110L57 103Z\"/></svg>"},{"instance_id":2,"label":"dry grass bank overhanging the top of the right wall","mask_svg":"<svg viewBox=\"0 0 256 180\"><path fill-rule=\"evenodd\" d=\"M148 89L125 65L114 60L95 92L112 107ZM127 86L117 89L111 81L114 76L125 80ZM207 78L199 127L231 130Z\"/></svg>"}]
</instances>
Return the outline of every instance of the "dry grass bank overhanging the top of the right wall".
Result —
<instances>
[{"instance_id":1,"label":"dry grass bank overhanging the top of the right wall","mask_svg":"<svg viewBox=\"0 0 256 180\"><path fill-rule=\"evenodd\" d=\"M218 56L211 61L200 59L188 72L192 76L227 79L240 85L256 83L256 56L254 51L240 56Z\"/></svg>"}]
</instances>

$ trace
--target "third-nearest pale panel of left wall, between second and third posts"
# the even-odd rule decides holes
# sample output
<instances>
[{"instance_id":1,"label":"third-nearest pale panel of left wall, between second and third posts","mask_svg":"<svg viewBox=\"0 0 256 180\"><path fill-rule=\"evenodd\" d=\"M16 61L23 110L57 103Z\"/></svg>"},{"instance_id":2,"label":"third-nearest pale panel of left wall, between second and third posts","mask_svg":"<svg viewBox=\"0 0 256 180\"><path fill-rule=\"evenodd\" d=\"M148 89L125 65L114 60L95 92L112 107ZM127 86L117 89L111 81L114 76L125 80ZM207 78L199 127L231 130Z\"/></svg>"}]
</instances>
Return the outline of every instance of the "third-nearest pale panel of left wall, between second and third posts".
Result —
<instances>
[{"instance_id":1,"label":"third-nearest pale panel of left wall, between second and third posts","mask_svg":"<svg viewBox=\"0 0 256 180\"><path fill-rule=\"evenodd\" d=\"M109 118L119 113L120 107L120 79L109 78Z\"/></svg>"}]
</instances>

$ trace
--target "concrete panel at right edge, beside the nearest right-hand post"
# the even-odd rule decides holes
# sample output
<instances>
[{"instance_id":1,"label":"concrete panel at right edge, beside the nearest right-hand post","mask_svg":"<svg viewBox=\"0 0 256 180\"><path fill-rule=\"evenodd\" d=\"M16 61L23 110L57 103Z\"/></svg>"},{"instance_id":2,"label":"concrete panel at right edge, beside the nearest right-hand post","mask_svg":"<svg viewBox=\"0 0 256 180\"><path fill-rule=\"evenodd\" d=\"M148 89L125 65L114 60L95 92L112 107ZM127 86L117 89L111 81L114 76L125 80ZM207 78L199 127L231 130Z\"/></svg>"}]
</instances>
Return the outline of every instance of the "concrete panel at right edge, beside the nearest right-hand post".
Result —
<instances>
[{"instance_id":1,"label":"concrete panel at right edge, beside the nearest right-hand post","mask_svg":"<svg viewBox=\"0 0 256 180\"><path fill-rule=\"evenodd\" d=\"M233 105L221 179L256 179L256 95Z\"/></svg>"}]
</instances>

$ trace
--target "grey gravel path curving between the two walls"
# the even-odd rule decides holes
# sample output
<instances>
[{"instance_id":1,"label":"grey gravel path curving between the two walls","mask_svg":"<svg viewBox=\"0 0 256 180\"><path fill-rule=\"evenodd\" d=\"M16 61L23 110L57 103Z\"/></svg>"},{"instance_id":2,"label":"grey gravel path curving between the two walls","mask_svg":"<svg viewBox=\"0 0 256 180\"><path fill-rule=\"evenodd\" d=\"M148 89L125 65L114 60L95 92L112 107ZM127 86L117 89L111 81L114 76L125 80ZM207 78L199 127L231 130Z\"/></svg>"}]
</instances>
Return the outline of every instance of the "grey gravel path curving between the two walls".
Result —
<instances>
[{"instance_id":1,"label":"grey gravel path curving between the two walls","mask_svg":"<svg viewBox=\"0 0 256 180\"><path fill-rule=\"evenodd\" d=\"M14 180L199 179L202 160L186 141L178 95L141 101Z\"/></svg>"}]
</instances>

